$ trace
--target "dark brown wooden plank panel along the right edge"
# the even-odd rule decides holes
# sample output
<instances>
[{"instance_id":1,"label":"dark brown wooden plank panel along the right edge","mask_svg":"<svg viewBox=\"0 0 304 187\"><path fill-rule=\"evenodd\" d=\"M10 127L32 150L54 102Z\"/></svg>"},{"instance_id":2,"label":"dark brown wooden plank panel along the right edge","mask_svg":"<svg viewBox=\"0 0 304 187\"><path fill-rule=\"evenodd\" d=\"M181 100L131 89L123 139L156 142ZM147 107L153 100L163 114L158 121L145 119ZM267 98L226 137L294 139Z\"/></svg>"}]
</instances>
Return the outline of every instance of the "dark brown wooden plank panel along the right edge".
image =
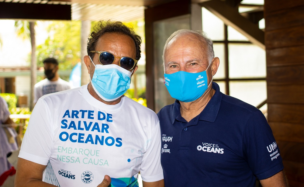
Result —
<instances>
[{"instance_id":1,"label":"dark brown wooden plank panel along the right edge","mask_svg":"<svg viewBox=\"0 0 304 187\"><path fill-rule=\"evenodd\" d=\"M268 122L291 187L304 187L304 1L264 5Z\"/></svg>"}]
</instances>

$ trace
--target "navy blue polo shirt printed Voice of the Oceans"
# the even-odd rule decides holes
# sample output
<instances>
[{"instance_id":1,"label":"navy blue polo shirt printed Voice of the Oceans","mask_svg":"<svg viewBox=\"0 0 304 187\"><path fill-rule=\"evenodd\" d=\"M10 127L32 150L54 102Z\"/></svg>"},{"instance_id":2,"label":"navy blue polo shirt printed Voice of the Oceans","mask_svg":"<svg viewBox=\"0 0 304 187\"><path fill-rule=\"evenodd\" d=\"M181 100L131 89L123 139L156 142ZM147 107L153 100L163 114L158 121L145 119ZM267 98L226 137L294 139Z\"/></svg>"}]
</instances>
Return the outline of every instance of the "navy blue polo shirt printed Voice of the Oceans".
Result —
<instances>
[{"instance_id":1,"label":"navy blue polo shirt printed Voice of the Oceans","mask_svg":"<svg viewBox=\"0 0 304 187\"><path fill-rule=\"evenodd\" d=\"M180 103L158 112L166 187L255 186L283 170L280 150L263 113L219 91L190 122Z\"/></svg>"}]
</instances>

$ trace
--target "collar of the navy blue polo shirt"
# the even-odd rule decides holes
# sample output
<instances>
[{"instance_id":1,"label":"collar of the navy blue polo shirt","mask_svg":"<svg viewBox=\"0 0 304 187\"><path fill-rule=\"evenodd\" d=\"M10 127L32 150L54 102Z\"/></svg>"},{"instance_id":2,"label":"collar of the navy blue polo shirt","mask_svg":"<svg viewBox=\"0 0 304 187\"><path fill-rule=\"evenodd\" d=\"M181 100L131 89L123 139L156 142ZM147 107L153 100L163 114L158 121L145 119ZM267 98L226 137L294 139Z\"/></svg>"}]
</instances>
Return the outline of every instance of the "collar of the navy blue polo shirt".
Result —
<instances>
[{"instance_id":1,"label":"collar of the navy blue polo shirt","mask_svg":"<svg viewBox=\"0 0 304 187\"><path fill-rule=\"evenodd\" d=\"M214 95L206 105L205 109L199 114L199 120L215 122L217 114L222 100L222 93L219 90L219 85L216 82L212 82L212 88L215 90ZM181 117L181 104L178 100L175 100L172 110L172 124L175 120L184 122L185 119ZM185 121L186 122L186 121Z\"/></svg>"}]
</instances>

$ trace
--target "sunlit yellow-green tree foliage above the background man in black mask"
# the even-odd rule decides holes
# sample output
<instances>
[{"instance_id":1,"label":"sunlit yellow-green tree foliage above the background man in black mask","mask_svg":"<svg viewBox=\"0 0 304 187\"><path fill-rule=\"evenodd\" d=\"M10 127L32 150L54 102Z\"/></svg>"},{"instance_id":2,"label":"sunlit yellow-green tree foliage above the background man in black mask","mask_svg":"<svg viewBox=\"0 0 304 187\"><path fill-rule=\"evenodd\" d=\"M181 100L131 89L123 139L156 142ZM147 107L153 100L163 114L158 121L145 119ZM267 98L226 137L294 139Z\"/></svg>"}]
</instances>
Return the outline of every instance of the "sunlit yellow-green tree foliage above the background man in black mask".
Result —
<instances>
[{"instance_id":1,"label":"sunlit yellow-green tree foliage above the background man in black mask","mask_svg":"<svg viewBox=\"0 0 304 187\"><path fill-rule=\"evenodd\" d=\"M44 44L37 46L37 66L43 66L43 59L54 57L59 69L72 69L81 62L81 22L53 21L47 28L49 33Z\"/></svg>"}]
</instances>

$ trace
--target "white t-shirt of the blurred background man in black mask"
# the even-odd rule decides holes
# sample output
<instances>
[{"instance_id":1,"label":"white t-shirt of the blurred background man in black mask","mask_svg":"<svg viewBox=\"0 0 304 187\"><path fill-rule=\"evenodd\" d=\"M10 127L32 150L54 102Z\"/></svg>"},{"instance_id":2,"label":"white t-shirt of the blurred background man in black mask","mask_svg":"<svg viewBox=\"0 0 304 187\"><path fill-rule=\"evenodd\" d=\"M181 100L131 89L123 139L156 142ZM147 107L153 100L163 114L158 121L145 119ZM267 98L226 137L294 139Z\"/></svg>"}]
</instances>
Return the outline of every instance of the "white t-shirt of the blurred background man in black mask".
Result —
<instances>
[{"instance_id":1,"label":"white t-shirt of the blurred background man in black mask","mask_svg":"<svg viewBox=\"0 0 304 187\"><path fill-rule=\"evenodd\" d=\"M71 88L71 83L61 78L58 78L57 81L50 81L49 79L45 78L42 81L37 82L34 86L34 103L36 103L43 95L60 92Z\"/></svg>"}]
</instances>

